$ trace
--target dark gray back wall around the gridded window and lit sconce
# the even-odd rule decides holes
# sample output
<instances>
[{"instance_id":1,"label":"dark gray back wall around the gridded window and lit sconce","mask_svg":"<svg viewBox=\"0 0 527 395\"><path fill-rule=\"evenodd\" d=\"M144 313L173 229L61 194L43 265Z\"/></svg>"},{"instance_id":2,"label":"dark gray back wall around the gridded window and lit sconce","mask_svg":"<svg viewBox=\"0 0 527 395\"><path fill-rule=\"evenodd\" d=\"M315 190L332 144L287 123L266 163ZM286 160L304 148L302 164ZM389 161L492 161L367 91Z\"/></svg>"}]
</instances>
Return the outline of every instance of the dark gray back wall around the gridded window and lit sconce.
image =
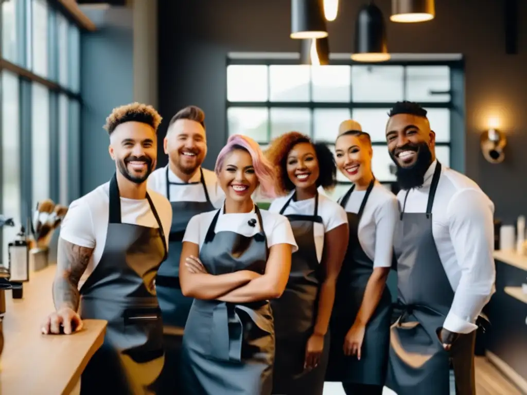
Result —
<instances>
[{"instance_id":1,"label":"dark gray back wall around the gridded window and lit sconce","mask_svg":"<svg viewBox=\"0 0 527 395\"><path fill-rule=\"evenodd\" d=\"M527 29L520 31L520 54L505 54L501 0L442 0L436 18L422 24L388 23L393 53L465 55L465 173L496 204L496 217L512 221L525 213L527 193ZM520 26L527 22L527 2L520 2ZM350 53L357 9L362 2L340 1L339 15L328 24L332 52ZM385 17L391 2L377 2ZM206 112L211 167L225 144L226 57L228 52L297 52L289 39L288 0L159 1L159 111L165 120L195 104ZM499 114L509 139L503 164L486 163L479 150L487 120ZM162 139L168 122L160 130ZM159 165L167 159L160 152ZM514 193L512 188L514 187Z\"/></svg>"}]
</instances>

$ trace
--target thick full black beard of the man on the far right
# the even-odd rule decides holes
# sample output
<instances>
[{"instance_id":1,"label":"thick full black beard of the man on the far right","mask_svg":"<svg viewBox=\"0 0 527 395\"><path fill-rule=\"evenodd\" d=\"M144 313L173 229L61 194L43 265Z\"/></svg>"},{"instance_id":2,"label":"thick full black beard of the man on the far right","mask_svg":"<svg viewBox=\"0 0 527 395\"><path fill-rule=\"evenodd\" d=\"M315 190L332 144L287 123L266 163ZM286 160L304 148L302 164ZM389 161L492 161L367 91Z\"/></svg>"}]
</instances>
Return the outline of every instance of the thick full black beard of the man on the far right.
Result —
<instances>
[{"instance_id":1,"label":"thick full black beard of the man on the far right","mask_svg":"<svg viewBox=\"0 0 527 395\"><path fill-rule=\"evenodd\" d=\"M417 152L417 159L415 163L409 167L402 167L399 165L395 154L401 151L414 151ZM407 143L402 147L397 147L390 153L392 161L397 166L395 175L397 177L397 183L399 187L404 190L417 188L423 186L425 182L425 173L432 163L432 151L426 143Z\"/></svg>"}]
</instances>

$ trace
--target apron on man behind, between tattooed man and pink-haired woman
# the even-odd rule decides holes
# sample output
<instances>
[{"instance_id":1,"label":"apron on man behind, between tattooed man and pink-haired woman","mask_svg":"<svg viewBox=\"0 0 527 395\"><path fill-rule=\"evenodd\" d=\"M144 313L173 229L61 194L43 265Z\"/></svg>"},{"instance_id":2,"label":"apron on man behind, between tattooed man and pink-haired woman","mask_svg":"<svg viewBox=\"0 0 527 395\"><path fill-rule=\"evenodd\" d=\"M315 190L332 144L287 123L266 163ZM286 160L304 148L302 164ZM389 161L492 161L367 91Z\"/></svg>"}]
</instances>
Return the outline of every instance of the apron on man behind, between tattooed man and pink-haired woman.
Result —
<instances>
[{"instance_id":1,"label":"apron on man behind, between tattooed man and pink-haired woman","mask_svg":"<svg viewBox=\"0 0 527 395\"><path fill-rule=\"evenodd\" d=\"M182 332L187 322L192 298L181 293L179 284L179 258L183 247L183 236L190 219L207 211L214 210L210 202L209 193L200 167L201 180L196 183L170 182L168 179L169 166L165 172L167 181L167 199L170 200L170 185L201 184L205 192L206 201L170 202L172 206L172 225L169 234L169 255L158 271L155 288L158 293L159 306L163 317L163 342L165 348L165 363L161 375L161 394L173 395L177 393L180 382L178 379L181 353Z\"/></svg>"}]
</instances>

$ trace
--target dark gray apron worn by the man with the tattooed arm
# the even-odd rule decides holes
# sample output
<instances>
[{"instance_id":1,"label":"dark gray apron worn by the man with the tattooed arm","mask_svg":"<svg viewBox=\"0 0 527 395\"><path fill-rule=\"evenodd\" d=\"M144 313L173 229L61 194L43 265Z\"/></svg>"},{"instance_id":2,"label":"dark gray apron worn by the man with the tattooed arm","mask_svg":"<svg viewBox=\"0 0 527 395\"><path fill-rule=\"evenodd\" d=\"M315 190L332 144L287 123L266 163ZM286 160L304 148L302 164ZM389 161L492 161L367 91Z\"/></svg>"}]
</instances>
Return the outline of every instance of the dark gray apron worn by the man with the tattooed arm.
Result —
<instances>
[{"instance_id":1,"label":"dark gray apron worn by the man with the tattooed arm","mask_svg":"<svg viewBox=\"0 0 527 395\"><path fill-rule=\"evenodd\" d=\"M121 222L117 179L110 181L109 223L99 264L82 285L82 319L108 321L102 347L81 377L82 395L155 394L163 368L163 324L154 278L167 256L159 229Z\"/></svg>"}]
</instances>

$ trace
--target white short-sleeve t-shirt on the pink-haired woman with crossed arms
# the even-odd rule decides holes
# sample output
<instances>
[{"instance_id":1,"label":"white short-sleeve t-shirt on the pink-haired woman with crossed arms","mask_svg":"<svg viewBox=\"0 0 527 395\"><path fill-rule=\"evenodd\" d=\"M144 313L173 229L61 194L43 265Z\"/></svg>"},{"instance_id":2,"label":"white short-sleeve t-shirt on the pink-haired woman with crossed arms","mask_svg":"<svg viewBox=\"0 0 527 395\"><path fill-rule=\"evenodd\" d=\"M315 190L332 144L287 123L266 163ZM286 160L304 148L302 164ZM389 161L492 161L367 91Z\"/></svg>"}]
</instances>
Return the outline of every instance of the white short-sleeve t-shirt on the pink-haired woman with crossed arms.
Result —
<instances>
[{"instance_id":1,"label":"white short-sleeve t-shirt on the pink-haired woman with crossed arms","mask_svg":"<svg viewBox=\"0 0 527 395\"><path fill-rule=\"evenodd\" d=\"M187 225L187 230L183 236L183 241L188 241L198 244L201 248L212 223L212 219L218 210L208 211L194 215ZM264 222L264 232L267 238L267 246L271 248L275 244L291 244L293 246L292 252L298 250L295 241L295 236L291 230L291 225L284 215L271 213L267 210L261 210L262 221ZM254 209L249 213L232 213L224 214L223 209L220 209L220 215L216 222L214 233L222 231L236 232L238 234L251 237L260 231L260 227L250 226L248 221L255 219L258 222L258 217Z\"/></svg>"}]
</instances>

